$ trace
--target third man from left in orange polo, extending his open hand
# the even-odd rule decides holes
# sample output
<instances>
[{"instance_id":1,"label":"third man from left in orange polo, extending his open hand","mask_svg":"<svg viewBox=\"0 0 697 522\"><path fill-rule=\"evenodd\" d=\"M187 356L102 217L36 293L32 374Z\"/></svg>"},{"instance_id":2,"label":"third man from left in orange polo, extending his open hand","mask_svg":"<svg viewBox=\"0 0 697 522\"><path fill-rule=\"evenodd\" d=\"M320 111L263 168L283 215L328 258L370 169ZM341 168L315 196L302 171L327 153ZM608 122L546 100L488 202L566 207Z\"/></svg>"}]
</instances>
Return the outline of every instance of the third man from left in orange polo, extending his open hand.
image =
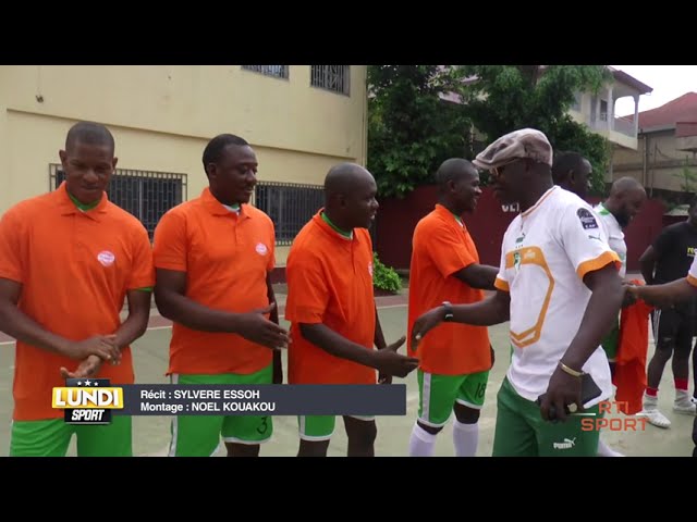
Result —
<instances>
[{"instance_id":1,"label":"third man from left in orange polo, extending his open hand","mask_svg":"<svg viewBox=\"0 0 697 522\"><path fill-rule=\"evenodd\" d=\"M366 229L378 211L372 175L353 163L325 179L325 208L295 237L285 268L291 321L290 384L377 384L406 376L418 360L387 346L372 293L372 244ZM374 345L378 348L374 349ZM299 422L298 457L326 457L335 418ZM372 457L374 418L344 415L348 457Z\"/></svg>"}]
</instances>

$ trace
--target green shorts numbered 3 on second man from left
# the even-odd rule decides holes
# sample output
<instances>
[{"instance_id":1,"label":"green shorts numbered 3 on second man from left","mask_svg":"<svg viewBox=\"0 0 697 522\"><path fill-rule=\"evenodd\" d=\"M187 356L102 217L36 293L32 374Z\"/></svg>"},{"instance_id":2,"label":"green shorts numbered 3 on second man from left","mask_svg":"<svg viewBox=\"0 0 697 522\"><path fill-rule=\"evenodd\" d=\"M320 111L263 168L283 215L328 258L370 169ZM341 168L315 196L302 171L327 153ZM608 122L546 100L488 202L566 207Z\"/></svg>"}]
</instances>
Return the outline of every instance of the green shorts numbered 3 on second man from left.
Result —
<instances>
[{"instance_id":1,"label":"green shorts numbered 3 on second man from left","mask_svg":"<svg viewBox=\"0 0 697 522\"><path fill-rule=\"evenodd\" d=\"M172 375L172 384L271 384L273 365L248 375ZM210 457L225 443L261 444L271 438L269 415L178 415L172 421L170 457Z\"/></svg>"}]
</instances>

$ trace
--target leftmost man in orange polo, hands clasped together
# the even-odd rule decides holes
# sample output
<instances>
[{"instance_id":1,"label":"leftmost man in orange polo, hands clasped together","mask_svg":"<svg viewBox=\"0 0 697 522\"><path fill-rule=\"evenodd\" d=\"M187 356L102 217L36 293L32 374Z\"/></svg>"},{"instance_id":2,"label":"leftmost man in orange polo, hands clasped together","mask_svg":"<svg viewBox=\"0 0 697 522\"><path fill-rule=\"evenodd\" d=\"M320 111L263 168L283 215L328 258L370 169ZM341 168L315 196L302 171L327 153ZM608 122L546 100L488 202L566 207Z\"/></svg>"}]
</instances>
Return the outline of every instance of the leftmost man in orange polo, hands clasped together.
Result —
<instances>
[{"instance_id":1,"label":"leftmost man in orange polo, hands clasped together","mask_svg":"<svg viewBox=\"0 0 697 522\"><path fill-rule=\"evenodd\" d=\"M0 222L0 330L17 339L11 456L132 456L131 418L71 425L51 408L62 377L133 384L129 345L145 332L155 284L150 240L105 189L117 166L102 125L75 124L59 152L65 182ZM121 322L124 297L129 316ZM103 364L103 361L120 364Z\"/></svg>"}]
</instances>

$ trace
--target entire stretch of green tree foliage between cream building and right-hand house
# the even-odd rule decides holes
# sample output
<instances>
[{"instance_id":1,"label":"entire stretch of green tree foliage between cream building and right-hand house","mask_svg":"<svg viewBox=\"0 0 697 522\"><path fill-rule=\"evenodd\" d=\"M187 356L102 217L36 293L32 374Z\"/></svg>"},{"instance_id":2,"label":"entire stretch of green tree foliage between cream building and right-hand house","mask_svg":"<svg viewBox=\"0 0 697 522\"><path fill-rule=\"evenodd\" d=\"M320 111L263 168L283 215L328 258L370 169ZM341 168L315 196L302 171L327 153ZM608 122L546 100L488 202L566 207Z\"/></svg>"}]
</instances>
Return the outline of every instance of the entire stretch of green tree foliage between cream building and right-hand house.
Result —
<instances>
[{"instance_id":1,"label":"entire stretch of green tree foliage between cream building and right-hand house","mask_svg":"<svg viewBox=\"0 0 697 522\"><path fill-rule=\"evenodd\" d=\"M475 128L490 142L523 127L588 158L594 191L602 192L609 144L567 111L576 91L597 91L609 74L602 65L368 66L368 169L380 195L431 184L448 158L473 159Z\"/></svg>"}]
</instances>

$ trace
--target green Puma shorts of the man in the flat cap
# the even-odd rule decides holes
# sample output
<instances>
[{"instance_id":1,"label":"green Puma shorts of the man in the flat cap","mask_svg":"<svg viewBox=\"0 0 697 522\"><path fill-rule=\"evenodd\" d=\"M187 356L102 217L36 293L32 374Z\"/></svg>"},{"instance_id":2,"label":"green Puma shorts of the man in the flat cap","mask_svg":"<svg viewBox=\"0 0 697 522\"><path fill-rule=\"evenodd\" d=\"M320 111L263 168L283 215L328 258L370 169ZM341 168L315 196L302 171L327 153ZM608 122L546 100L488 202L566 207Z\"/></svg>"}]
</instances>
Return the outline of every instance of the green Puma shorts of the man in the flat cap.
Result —
<instances>
[{"instance_id":1,"label":"green Puma shorts of the man in the flat cap","mask_svg":"<svg viewBox=\"0 0 697 522\"><path fill-rule=\"evenodd\" d=\"M503 380L497 397L493 457L596 457L600 432L592 420L602 419L598 405L566 422L546 422L535 402L521 397ZM595 415L590 414L595 413Z\"/></svg>"}]
</instances>

